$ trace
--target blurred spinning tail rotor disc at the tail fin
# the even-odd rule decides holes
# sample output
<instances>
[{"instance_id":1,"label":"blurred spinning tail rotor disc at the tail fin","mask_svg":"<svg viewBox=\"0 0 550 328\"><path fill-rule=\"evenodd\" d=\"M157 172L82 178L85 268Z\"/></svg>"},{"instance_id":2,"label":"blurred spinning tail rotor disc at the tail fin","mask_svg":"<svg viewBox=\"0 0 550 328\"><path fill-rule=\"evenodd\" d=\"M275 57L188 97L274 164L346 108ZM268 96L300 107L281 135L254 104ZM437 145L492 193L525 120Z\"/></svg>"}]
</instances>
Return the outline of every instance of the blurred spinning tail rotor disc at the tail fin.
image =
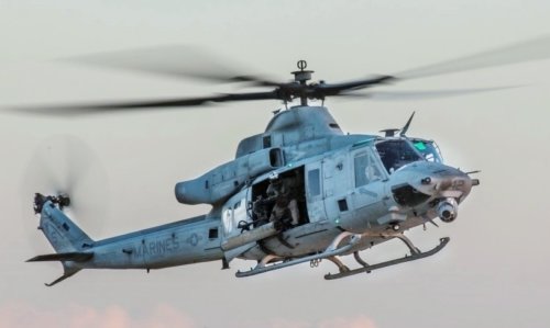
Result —
<instances>
[{"instance_id":1,"label":"blurred spinning tail rotor disc at the tail fin","mask_svg":"<svg viewBox=\"0 0 550 328\"><path fill-rule=\"evenodd\" d=\"M68 135L48 137L37 146L22 181L22 219L25 225L38 225L33 219L35 193L68 196L70 201L65 203L63 211L90 235L97 236L109 212L108 189L107 172L84 140ZM25 230L35 231L31 227Z\"/></svg>"}]
</instances>

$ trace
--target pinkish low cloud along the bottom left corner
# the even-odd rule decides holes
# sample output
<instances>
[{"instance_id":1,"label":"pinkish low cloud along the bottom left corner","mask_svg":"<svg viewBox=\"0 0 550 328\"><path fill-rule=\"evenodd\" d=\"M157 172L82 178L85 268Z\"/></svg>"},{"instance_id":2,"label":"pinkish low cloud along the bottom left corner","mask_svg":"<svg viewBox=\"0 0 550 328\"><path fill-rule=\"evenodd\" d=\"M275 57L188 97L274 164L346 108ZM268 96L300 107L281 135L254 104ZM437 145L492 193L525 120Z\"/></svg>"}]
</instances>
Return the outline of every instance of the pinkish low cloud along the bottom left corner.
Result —
<instances>
[{"instance_id":1,"label":"pinkish low cloud along the bottom left corner","mask_svg":"<svg viewBox=\"0 0 550 328\"><path fill-rule=\"evenodd\" d=\"M55 310L24 303L0 307L0 328L196 328L193 319L168 305L158 305L146 314L130 315L120 306L97 309L69 306Z\"/></svg>"}]
</instances>

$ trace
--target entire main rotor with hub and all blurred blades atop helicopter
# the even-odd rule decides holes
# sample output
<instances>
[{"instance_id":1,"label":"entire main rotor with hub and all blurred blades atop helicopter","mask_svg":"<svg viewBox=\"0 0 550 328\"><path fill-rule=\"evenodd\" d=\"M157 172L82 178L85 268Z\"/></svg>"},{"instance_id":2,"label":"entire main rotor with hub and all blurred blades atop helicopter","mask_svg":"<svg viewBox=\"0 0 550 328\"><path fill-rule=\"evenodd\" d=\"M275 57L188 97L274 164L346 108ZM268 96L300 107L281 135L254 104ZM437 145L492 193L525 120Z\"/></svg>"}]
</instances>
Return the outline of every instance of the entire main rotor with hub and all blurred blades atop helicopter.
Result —
<instances>
[{"instance_id":1,"label":"entire main rotor with hub and all blurred blades atop helicopter","mask_svg":"<svg viewBox=\"0 0 550 328\"><path fill-rule=\"evenodd\" d=\"M73 58L72 61L91 64L97 66L116 67L145 71L172 78L195 78L218 82L239 82L252 87L268 88L258 92L221 93L198 98L173 98L156 100L140 100L125 102L106 103L77 103L66 105L53 105L41 108L15 109L19 112L58 115L80 115L90 113L109 113L119 111L145 111L174 108L195 108L218 102L279 100L285 103L299 99L301 105L307 105L308 100L324 100L328 97L365 97L377 99L415 99L462 95L494 91L510 87L496 87L484 89L460 89L460 90L432 90L415 92L377 92L370 90L369 93L358 93L359 90L375 86L397 83L402 80L419 79L444 73L474 70L486 67L496 67L531 60L540 60L550 57L550 36L543 36L522 43L517 43L488 52L483 52L453 60L441 61L409 69L395 75L378 75L363 79L331 83L326 81L310 82L310 70L305 70L305 60L298 61L298 71L294 71L295 79L287 82L278 82L264 78L261 75L240 73L239 69L231 69L235 65L223 65L222 60L213 59L208 53L197 48L185 46L170 46L158 48L145 48L135 50L123 50L98 55Z\"/></svg>"}]
</instances>

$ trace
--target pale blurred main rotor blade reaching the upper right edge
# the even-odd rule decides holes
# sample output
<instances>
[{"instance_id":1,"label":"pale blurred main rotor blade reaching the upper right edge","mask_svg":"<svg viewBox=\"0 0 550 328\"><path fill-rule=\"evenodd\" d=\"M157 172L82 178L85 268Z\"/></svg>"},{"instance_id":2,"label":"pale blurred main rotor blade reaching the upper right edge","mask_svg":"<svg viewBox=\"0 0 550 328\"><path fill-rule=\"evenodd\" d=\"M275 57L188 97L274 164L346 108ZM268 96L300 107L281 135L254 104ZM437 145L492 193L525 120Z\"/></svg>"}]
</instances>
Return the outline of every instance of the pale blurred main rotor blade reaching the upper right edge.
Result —
<instances>
[{"instance_id":1,"label":"pale blurred main rotor blade reaching the upper right edge","mask_svg":"<svg viewBox=\"0 0 550 328\"><path fill-rule=\"evenodd\" d=\"M550 35L503 46L470 56L409 69L394 75L397 79L419 79L480 68L496 67L550 58Z\"/></svg>"}]
</instances>

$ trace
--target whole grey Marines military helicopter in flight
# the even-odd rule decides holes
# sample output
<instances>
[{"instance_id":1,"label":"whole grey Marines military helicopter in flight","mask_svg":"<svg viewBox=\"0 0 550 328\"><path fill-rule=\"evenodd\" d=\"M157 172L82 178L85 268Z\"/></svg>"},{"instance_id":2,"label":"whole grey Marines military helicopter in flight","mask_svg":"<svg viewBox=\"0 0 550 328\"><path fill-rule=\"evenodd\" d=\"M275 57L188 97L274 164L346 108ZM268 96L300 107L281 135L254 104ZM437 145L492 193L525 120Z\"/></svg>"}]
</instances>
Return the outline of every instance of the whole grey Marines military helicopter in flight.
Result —
<instances>
[{"instance_id":1,"label":"whole grey Marines military helicopter in flight","mask_svg":"<svg viewBox=\"0 0 550 328\"><path fill-rule=\"evenodd\" d=\"M437 218L444 223L455 220L459 206L480 184L479 179L471 177L479 171L464 172L446 163L435 140L409 137L407 132L415 113L404 127L384 129L383 135L345 134L323 105L324 100L353 97L365 88L406 79L543 59L550 56L549 44L550 37L537 38L402 73L341 83L310 82L314 71L307 69L305 60L299 60L289 82L252 75L199 76L271 88L268 91L25 109L41 114L79 115L212 102L278 100L285 104L284 110L274 112L263 133L240 142L234 159L196 179L176 183L177 201L186 205L211 205L207 214L95 240L64 212L72 204L69 194L35 193L33 208L40 216L38 229L55 253L28 261L61 262L63 275L46 284L53 286L82 269L148 272L221 261L221 268L227 270L234 259L256 262L250 270L238 271L238 278L306 262L314 268L328 260L338 271L326 274L324 279L334 280L432 256L448 245L449 237L421 251L405 233L426 224L437 226ZM197 77L196 72L166 69L164 64L120 60L119 55L96 59L102 65ZM295 100L299 104L288 106ZM322 105L310 104L309 100L320 100ZM403 241L410 255L374 264L360 255L394 239ZM348 256L353 257L356 268L342 262L341 258Z\"/></svg>"}]
</instances>

